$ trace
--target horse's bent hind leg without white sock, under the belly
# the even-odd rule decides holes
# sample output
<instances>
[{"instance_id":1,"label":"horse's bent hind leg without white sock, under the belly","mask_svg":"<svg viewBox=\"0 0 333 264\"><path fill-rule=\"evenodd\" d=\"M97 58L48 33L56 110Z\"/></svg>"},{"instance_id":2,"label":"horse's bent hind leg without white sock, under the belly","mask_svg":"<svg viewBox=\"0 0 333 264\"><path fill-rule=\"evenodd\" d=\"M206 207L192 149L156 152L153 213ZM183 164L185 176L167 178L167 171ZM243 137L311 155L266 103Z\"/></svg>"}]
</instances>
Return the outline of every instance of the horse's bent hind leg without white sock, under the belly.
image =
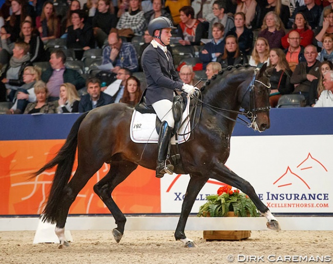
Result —
<instances>
[{"instance_id":1,"label":"horse's bent hind leg without white sock, under the belly","mask_svg":"<svg viewBox=\"0 0 333 264\"><path fill-rule=\"evenodd\" d=\"M122 238L126 217L114 202L111 194L114 188L126 179L137 166L137 164L126 160L112 162L108 174L94 186L95 193L100 197L103 203L105 203L116 220L117 228L115 228L112 233L117 243L119 243Z\"/></svg>"}]
</instances>

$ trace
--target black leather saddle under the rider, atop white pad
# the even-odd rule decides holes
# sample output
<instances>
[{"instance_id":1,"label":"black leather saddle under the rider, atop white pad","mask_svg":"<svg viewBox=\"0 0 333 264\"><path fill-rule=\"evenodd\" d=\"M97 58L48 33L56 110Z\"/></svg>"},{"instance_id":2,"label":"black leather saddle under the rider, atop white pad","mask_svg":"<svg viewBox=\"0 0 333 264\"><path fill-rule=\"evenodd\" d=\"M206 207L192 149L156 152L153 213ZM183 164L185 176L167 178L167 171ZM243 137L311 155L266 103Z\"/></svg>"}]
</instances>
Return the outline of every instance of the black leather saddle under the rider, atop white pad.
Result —
<instances>
[{"instance_id":1,"label":"black leather saddle under the rider, atop white pad","mask_svg":"<svg viewBox=\"0 0 333 264\"><path fill-rule=\"evenodd\" d=\"M175 120L175 126L173 129L173 135L176 135L176 131L181 126L181 115L185 111L186 104L188 103L188 98L186 95L177 95L174 97L172 102L172 114ZM140 112L141 114L156 114L153 106L148 105L145 99L145 91L142 94L140 102L135 106L135 110ZM156 115L156 132L159 134L159 130L161 128L161 120Z\"/></svg>"}]
</instances>

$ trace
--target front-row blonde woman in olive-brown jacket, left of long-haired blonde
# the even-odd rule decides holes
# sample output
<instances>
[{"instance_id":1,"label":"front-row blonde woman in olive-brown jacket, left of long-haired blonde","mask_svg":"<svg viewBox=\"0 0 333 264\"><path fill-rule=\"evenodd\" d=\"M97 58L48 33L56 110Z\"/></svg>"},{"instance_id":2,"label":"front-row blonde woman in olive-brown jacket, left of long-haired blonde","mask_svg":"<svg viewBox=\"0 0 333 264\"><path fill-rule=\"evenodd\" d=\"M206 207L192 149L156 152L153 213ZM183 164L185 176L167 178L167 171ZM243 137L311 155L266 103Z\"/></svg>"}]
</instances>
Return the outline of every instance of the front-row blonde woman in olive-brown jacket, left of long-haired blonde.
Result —
<instances>
[{"instance_id":1,"label":"front-row blonde woman in olive-brown jacket, left of long-haired blonde","mask_svg":"<svg viewBox=\"0 0 333 264\"><path fill-rule=\"evenodd\" d=\"M34 93L36 102L29 103L24 111L24 114L55 114L56 107L53 102L48 102L48 88L43 81L37 81L34 85Z\"/></svg>"}]
</instances>

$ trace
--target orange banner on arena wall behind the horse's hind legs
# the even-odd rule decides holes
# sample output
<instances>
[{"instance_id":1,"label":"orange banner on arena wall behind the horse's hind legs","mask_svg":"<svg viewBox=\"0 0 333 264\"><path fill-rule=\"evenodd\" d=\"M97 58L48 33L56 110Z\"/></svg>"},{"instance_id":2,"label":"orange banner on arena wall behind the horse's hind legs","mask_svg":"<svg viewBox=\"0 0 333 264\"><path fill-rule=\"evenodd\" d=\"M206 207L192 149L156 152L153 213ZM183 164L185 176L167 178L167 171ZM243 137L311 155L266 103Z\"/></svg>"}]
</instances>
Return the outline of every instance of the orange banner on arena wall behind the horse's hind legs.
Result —
<instances>
[{"instance_id":1,"label":"orange banner on arena wall behind the horse's hind legs","mask_svg":"<svg viewBox=\"0 0 333 264\"><path fill-rule=\"evenodd\" d=\"M29 180L29 174L50 161L65 140L0 141L0 215L39 215L52 183L55 168ZM77 166L75 160L73 173ZM110 169L104 164L72 204L70 214L109 214L93 186ZM160 182L155 172L138 167L112 194L124 214L161 212Z\"/></svg>"}]
</instances>

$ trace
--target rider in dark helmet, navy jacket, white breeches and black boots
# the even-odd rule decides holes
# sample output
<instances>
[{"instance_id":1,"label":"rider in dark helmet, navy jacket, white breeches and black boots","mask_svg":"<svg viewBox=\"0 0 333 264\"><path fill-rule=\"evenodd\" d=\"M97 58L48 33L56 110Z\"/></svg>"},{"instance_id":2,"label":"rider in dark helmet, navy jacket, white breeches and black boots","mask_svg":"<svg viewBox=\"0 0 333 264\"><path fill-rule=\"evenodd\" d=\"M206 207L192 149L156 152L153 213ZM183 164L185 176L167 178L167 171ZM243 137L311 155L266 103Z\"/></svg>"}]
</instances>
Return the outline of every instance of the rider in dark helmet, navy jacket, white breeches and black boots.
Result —
<instances>
[{"instance_id":1,"label":"rider in dark helmet, navy jacket, white breeches and black boots","mask_svg":"<svg viewBox=\"0 0 333 264\"><path fill-rule=\"evenodd\" d=\"M159 16L148 25L149 34L154 37L151 44L142 53L142 69L147 80L145 98L152 105L162 125L158 137L158 158L156 177L164 173L172 174L174 166L166 164L175 121L172 114L174 91L185 91L192 95L196 87L184 84L175 70L173 59L166 45L170 44L171 31L175 29L169 18Z\"/></svg>"}]
</instances>

